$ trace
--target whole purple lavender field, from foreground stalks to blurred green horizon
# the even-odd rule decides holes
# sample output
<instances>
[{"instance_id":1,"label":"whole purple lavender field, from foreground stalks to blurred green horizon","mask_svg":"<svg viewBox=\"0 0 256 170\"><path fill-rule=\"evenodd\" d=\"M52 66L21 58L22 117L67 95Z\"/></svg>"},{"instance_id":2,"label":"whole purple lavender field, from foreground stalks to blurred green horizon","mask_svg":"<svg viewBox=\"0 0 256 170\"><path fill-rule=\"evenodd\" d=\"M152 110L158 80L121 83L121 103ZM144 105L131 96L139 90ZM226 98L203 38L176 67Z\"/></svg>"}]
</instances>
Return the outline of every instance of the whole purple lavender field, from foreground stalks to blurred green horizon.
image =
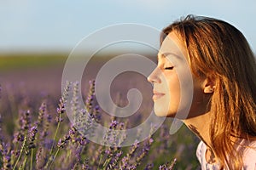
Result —
<instances>
[{"instance_id":1,"label":"whole purple lavender field, from foreground stalks to blurred green horizon","mask_svg":"<svg viewBox=\"0 0 256 170\"><path fill-rule=\"evenodd\" d=\"M148 139L125 147L96 144L80 134L67 117L66 94L61 94L67 56L0 55L2 169L200 169L195 157L199 139L184 126L170 135L171 119L166 119ZM89 112L86 125L90 127L93 120L110 129L136 127L153 109L152 87L140 74L120 74L110 89L113 101L127 105L127 91L137 88L143 94L143 103L127 118L109 116L97 105L91 81L108 59L94 58L84 70L81 84ZM66 90L73 89L67 86Z\"/></svg>"}]
</instances>

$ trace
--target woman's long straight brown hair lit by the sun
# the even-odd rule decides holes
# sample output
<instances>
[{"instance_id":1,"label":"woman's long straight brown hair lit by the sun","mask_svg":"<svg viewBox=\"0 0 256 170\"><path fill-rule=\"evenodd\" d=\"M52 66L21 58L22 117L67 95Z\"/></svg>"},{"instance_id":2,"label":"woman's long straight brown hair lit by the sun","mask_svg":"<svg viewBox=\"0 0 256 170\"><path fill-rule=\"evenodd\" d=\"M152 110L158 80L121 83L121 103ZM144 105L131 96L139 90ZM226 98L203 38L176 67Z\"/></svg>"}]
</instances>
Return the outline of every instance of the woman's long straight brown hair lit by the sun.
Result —
<instances>
[{"instance_id":1,"label":"woman's long straight brown hair lit by the sun","mask_svg":"<svg viewBox=\"0 0 256 170\"><path fill-rule=\"evenodd\" d=\"M188 15L167 26L181 37L189 65L198 77L215 78L210 111L210 136L220 168L241 169L236 141L256 137L256 63L246 38L223 20Z\"/></svg>"}]
</instances>

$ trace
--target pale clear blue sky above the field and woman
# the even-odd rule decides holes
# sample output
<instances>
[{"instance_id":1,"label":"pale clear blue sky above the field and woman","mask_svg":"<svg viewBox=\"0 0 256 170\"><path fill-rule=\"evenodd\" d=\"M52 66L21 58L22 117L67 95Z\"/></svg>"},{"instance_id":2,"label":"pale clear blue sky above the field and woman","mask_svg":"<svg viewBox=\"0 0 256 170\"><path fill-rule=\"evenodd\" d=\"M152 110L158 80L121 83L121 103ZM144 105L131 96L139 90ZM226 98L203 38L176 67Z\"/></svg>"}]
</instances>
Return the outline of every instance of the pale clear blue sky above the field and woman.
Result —
<instances>
[{"instance_id":1,"label":"pale clear blue sky above the field and woman","mask_svg":"<svg viewBox=\"0 0 256 170\"><path fill-rule=\"evenodd\" d=\"M187 14L228 21L256 52L255 0L0 0L0 53L71 51L106 26L136 23L161 30Z\"/></svg>"}]
</instances>

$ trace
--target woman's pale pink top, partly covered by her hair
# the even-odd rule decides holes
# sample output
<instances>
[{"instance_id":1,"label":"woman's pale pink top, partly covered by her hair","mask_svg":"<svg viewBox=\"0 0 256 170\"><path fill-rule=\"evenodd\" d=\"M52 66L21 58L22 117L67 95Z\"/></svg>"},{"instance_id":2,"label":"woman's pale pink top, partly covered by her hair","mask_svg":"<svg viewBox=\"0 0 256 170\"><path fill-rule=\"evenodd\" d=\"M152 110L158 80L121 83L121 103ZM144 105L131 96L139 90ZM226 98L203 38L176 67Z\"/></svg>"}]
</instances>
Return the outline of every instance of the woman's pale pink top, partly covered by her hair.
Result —
<instances>
[{"instance_id":1,"label":"woman's pale pink top, partly covered by her hair","mask_svg":"<svg viewBox=\"0 0 256 170\"><path fill-rule=\"evenodd\" d=\"M241 141L241 144L244 140ZM243 169L244 170L256 170L256 141L248 144L249 147L243 150ZM201 170L217 170L218 163L210 164L206 160L207 145L202 141L198 144L196 150L196 156L198 161L201 163Z\"/></svg>"}]
</instances>

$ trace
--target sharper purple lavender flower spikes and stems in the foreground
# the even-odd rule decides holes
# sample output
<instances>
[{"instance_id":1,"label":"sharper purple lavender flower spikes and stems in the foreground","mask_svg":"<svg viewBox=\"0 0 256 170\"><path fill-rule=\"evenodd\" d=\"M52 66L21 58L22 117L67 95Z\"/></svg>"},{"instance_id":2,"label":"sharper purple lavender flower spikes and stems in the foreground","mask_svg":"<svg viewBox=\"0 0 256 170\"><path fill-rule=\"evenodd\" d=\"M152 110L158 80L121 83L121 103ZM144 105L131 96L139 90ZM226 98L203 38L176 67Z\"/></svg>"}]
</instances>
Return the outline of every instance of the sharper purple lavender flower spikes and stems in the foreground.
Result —
<instances>
[{"instance_id":1,"label":"sharper purple lavender flower spikes and stems in the foreground","mask_svg":"<svg viewBox=\"0 0 256 170\"><path fill-rule=\"evenodd\" d=\"M94 82L85 99L85 108L77 108L77 90L67 83L55 113L50 111L49 103L44 100L36 113L29 109L19 110L16 116L14 133L10 137L3 132L3 118L0 127L0 167L2 169L172 169L177 160L170 156L163 162L170 150L168 134L160 130L148 136L143 142L137 140L129 147L95 144L86 133L93 135L93 122L104 124L109 129L123 130L128 122L111 117L103 122L101 110L96 105ZM79 112L74 123L84 127L79 133L67 119L66 105L68 92L73 90L73 112ZM25 104L20 104L25 105ZM25 106L23 108L26 108ZM29 107L27 107L29 108ZM81 121L83 119L83 121ZM163 125L165 126L165 125ZM150 130L150 129L148 129ZM115 138L106 134L105 139ZM123 136L125 139L125 136ZM119 142L122 142L122 138ZM102 141L104 143L104 141ZM158 153L155 152L157 150ZM178 150L178 149L177 149ZM182 147L180 147L180 151ZM176 154L175 156L179 156Z\"/></svg>"}]
</instances>

